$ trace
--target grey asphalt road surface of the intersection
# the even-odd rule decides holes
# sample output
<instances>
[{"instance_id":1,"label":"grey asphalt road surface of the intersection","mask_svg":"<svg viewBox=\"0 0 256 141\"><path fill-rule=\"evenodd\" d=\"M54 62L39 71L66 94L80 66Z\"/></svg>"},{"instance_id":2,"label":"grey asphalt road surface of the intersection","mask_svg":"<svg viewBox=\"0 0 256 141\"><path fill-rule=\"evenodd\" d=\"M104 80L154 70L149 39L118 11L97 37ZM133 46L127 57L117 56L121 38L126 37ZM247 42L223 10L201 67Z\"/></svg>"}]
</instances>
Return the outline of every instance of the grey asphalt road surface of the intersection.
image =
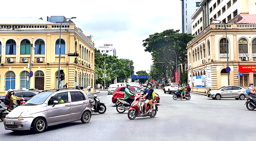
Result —
<instances>
[{"instance_id":1,"label":"grey asphalt road surface of the intersection","mask_svg":"<svg viewBox=\"0 0 256 141\"><path fill-rule=\"evenodd\" d=\"M212 100L191 94L191 99L173 100L172 95L155 90L160 96L154 118L129 120L127 111L119 114L112 95L98 94L107 106L103 115L93 113L89 123L81 121L49 126L41 134L5 130L0 122L1 141L107 141L107 140L255 140L256 110L249 111L245 100Z\"/></svg>"}]
</instances>

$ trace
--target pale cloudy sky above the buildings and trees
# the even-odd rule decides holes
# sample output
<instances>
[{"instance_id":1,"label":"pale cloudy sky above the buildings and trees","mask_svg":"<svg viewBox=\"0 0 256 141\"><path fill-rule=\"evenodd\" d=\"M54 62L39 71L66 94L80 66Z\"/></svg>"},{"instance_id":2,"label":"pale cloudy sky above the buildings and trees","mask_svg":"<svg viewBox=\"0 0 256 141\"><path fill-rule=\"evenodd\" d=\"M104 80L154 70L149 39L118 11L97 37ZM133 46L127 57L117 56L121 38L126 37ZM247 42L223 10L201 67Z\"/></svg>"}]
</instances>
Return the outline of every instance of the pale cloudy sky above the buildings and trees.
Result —
<instances>
[{"instance_id":1,"label":"pale cloudy sky above the buildings and trees","mask_svg":"<svg viewBox=\"0 0 256 141\"><path fill-rule=\"evenodd\" d=\"M113 44L118 58L133 60L135 73L152 64L142 40L164 30L182 30L180 0L5 0L1 5L6 5L1 6L1 17L46 21L51 15L75 16L72 21L85 35L92 35L95 47Z\"/></svg>"}]
</instances>

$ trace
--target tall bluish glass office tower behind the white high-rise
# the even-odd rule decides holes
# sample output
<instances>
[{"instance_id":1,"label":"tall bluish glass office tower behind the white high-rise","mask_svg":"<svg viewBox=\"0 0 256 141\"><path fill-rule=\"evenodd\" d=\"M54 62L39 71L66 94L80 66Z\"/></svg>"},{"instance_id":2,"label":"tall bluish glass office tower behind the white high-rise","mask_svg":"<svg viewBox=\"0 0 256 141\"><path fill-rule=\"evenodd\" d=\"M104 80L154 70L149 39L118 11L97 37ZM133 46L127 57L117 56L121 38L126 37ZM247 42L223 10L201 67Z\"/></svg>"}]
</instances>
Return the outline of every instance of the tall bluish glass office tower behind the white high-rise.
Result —
<instances>
[{"instance_id":1,"label":"tall bluish glass office tower behind the white high-rise","mask_svg":"<svg viewBox=\"0 0 256 141\"><path fill-rule=\"evenodd\" d=\"M182 33L191 33L191 17L199 7L200 0L182 1Z\"/></svg>"}]
</instances>

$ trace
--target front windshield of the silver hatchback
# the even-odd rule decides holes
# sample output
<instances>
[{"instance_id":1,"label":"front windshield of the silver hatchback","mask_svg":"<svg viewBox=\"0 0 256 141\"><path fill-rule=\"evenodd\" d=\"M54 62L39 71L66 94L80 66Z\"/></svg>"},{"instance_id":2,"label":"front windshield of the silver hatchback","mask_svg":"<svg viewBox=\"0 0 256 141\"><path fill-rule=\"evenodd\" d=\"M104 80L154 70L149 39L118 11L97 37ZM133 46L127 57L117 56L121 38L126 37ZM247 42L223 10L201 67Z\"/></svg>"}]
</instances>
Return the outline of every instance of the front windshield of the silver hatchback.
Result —
<instances>
[{"instance_id":1,"label":"front windshield of the silver hatchback","mask_svg":"<svg viewBox=\"0 0 256 141\"><path fill-rule=\"evenodd\" d=\"M41 92L35 96L33 96L32 98L30 98L25 105L29 105L29 104L42 104L47 97L49 97L51 94L53 93L53 91L46 91L46 92Z\"/></svg>"}]
</instances>

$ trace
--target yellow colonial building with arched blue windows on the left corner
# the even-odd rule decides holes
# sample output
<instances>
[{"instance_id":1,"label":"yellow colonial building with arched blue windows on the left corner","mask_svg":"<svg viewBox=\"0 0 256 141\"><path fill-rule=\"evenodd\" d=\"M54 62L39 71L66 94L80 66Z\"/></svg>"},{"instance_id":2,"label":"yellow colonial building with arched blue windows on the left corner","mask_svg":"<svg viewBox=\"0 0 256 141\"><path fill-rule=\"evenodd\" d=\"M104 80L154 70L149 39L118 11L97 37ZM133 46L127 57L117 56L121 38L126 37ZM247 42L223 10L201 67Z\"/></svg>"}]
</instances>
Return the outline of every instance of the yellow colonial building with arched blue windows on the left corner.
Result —
<instances>
[{"instance_id":1,"label":"yellow colonial building with arched blue windows on the left corner","mask_svg":"<svg viewBox=\"0 0 256 141\"><path fill-rule=\"evenodd\" d=\"M42 18L0 18L0 95L9 88L56 89L58 85L59 42L61 54L74 53L78 57L61 55L60 67L65 79L61 87L94 87L94 43L91 36L72 22L60 24ZM32 57L30 46L32 44ZM32 60L30 84L29 63Z\"/></svg>"}]
</instances>

